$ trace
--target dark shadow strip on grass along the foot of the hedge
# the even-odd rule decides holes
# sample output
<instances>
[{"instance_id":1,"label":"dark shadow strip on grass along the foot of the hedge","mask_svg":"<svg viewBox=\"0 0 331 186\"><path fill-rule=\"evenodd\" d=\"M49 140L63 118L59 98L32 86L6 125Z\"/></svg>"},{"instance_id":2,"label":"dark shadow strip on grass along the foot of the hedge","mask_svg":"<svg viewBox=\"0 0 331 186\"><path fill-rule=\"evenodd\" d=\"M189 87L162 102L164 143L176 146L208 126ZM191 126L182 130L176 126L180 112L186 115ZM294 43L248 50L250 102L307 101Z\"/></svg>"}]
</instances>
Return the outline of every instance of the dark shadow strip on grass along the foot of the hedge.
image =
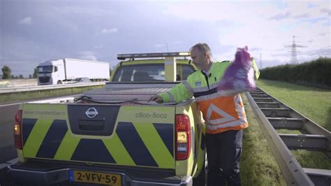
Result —
<instances>
[{"instance_id":1,"label":"dark shadow strip on grass along the foot of the hedge","mask_svg":"<svg viewBox=\"0 0 331 186\"><path fill-rule=\"evenodd\" d=\"M318 87L312 87L312 86L304 86L304 85L297 85L295 83L290 83L290 82L284 82L284 81L276 81L276 80L265 80L261 79L258 80L258 84L260 83L268 85L270 87L279 87L279 84L281 85L282 88L286 88L290 91L317 91L317 92L330 92L330 90L318 88Z\"/></svg>"}]
</instances>

